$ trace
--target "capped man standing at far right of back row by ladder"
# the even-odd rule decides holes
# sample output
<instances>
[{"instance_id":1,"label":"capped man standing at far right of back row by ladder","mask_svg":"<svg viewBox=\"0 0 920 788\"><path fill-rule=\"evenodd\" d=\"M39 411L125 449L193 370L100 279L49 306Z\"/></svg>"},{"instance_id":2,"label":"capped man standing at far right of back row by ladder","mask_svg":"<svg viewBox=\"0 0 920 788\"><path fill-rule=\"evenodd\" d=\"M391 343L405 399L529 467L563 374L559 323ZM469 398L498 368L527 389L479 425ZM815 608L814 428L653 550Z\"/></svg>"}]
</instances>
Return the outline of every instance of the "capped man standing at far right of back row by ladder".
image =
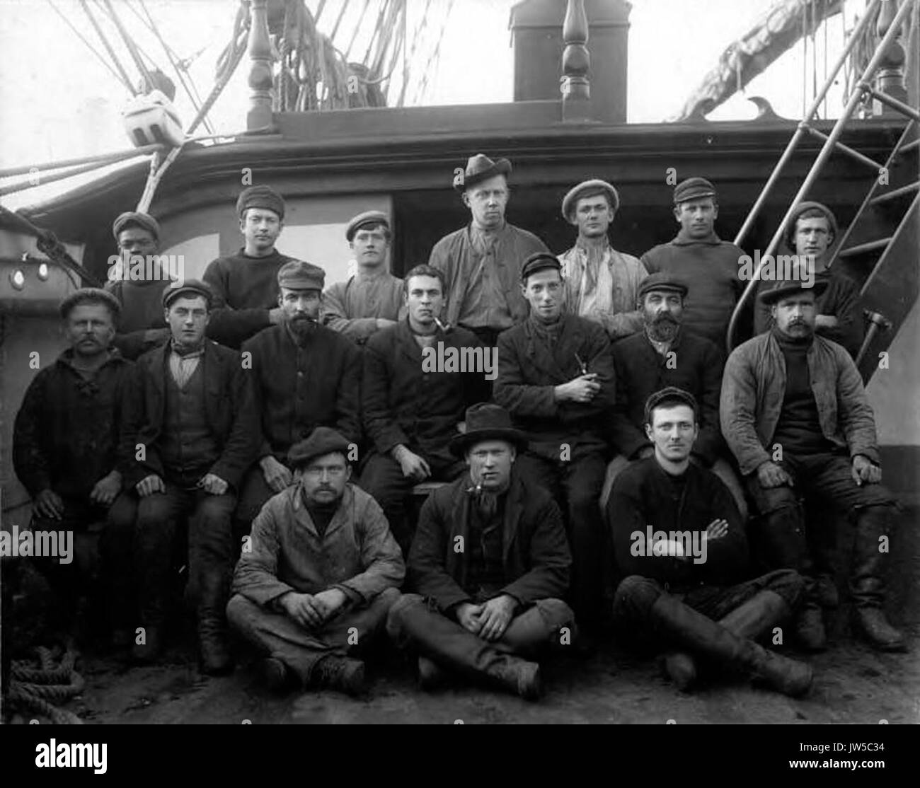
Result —
<instances>
[{"instance_id":1,"label":"capped man standing at far right of back row by ladder","mask_svg":"<svg viewBox=\"0 0 920 788\"><path fill-rule=\"evenodd\" d=\"M843 345L855 359L863 340L859 289L839 266L828 268L836 237L837 220L833 211L820 202L806 201L789 218L784 241L788 249L795 251L799 278L811 281L813 277L814 281L827 284L816 305L815 333ZM764 291L769 286L769 282L762 281L759 290ZM773 325L770 307L758 300L755 315L754 333L769 331Z\"/></svg>"}]
</instances>

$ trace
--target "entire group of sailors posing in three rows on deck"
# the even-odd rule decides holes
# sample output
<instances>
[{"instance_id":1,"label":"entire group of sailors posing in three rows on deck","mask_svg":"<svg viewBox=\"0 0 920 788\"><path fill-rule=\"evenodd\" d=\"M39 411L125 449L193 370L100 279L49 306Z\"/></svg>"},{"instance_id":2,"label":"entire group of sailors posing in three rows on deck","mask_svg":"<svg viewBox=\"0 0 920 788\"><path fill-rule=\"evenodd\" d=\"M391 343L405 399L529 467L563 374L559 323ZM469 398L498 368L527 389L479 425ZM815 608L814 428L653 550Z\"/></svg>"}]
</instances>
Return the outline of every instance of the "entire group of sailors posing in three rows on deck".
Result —
<instances>
[{"instance_id":1,"label":"entire group of sailors posing in three rows on deck","mask_svg":"<svg viewBox=\"0 0 920 788\"><path fill-rule=\"evenodd\" d=\"M534 698L542 657L612 631L663 652L683 690L720 666L798 695L811 667L780 652L826 648L851 518L857 631L904 649L833 213L800 206L787 241L813 279L763 282L758 333L725 360L744 252L715 233L709 181L674 188L680 229L641 258L610 244L616 188L578 184L556 256L505 221L511 173L471 157L454 179L470 222L402 279L367 211L345 233L355 273L327 288L278 251L284 200L255 186L236 202L245 245L202 280L63 300L69 347L29 385L14 463L33 531L106 523L114 647L162 654L187 527L207 673L233 667L229 625L271 687L360 693L388 636L426 689L466 676ZM126 256L161 243L143 213L113 230ZM432 348L497 365L432 367ZM72 616L78 568L43 565Z\"/></svg>"}]
</instances>

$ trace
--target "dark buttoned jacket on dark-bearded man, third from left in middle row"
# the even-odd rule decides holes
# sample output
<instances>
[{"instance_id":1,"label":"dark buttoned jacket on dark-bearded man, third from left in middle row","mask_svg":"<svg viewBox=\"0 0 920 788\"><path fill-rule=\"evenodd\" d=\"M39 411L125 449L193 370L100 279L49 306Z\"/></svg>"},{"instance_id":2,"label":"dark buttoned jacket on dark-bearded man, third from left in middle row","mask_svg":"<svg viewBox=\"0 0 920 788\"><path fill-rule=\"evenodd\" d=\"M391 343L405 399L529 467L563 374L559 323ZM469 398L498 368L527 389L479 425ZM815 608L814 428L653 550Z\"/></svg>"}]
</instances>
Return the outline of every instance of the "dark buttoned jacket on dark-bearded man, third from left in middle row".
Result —
<instances>
[{"instance_id":1,"label":"dark buttoned jacket on dark-bearded man, third from left in middle row","mask_svg":"<svg viewBox=\"0 0 920 788\"><path fill-rule=\"evenodd\" d=\"M252 364L261 415L259 459L272 454L287 462L293 444L317 427L361 440L361 352L350 339L316 325L298 346L282 323L260 331L242 349Z\"/></svg>"}]
</instances>

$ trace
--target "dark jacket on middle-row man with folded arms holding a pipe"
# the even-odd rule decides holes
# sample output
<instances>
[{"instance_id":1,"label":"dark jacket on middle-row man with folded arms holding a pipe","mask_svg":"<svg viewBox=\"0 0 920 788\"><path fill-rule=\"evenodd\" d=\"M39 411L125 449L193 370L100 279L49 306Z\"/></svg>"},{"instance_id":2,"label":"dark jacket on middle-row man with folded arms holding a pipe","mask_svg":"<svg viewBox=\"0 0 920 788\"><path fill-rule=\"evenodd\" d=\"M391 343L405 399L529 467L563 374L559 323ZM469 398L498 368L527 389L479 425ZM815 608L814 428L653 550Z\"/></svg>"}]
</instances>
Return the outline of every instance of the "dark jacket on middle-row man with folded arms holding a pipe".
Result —
<instances>
[{"instance_id":1,"label":"dark jacket on middle-row man with folded arms holding a pipe","mask_svg":"<svg viewBox=\"0 0 920 788\"><path fill-rule=\"evenodd\" d=\"M527 433L531 451L559 460L565 443L574 460L591 451L607 451L614 364L601 325L574 314L559 319L562 327L552 348L537 335L533 319L500 335L495 401L511 412L515 427ZM579 359L587 371L598 374L601 391L588 403L557 402L553 389L581 375Z\"/></svg>"}]
</instances>

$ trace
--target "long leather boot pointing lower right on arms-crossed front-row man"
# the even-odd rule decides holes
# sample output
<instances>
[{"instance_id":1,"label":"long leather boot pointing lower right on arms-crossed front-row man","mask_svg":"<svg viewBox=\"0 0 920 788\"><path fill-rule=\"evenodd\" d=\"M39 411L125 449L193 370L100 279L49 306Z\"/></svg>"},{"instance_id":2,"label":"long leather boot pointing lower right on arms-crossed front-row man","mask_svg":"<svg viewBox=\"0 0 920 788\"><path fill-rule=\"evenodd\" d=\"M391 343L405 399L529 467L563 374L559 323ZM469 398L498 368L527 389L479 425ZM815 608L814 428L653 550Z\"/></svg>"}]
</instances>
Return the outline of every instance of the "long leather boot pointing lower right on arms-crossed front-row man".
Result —
<instances>
[{"instance_id":1,"label":"long leather boot pointing lower right on arms-crossed front-row man","mask_svg":"<svg viewBox=\"0 0 920 788\"><path fill-rule=\"evenodd\" d=\"M811 666L780 657L752 640L739 637L670 594L661 594L652 605L650 616L661 634L677 640L689 651L744 668L776 691L795 697L811 687Z\"/></svg>"}]
</instances>

